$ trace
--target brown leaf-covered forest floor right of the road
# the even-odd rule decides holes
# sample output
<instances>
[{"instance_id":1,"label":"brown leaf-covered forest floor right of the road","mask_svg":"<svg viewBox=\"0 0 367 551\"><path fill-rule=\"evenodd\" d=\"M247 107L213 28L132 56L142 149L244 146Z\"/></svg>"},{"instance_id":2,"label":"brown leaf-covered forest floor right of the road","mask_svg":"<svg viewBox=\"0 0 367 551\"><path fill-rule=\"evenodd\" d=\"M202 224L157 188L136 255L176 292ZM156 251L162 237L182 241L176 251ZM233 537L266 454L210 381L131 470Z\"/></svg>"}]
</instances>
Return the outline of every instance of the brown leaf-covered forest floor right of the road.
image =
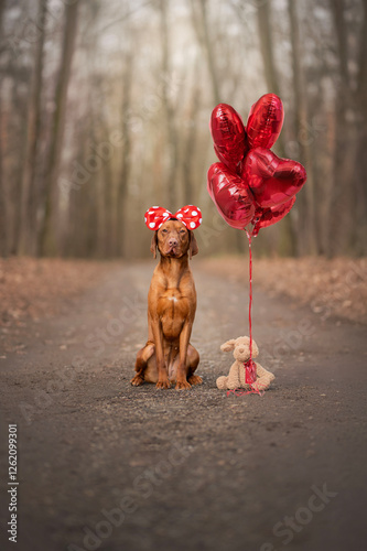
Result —
<instances>
[{"instance_id":1,"label":"brown leaf-covered forest floor right of the road","mask_svg":"<svg viewBox=\"0 0 367 551\"><path fill-rule=\"evenodd\" d=\"M248 283L248 261L239 257L212 258L209 271ZM255 289L269 296L289 296L323 317L336 315L367 324L367 258L255 258Z\"/></svg>"}]
</instances>

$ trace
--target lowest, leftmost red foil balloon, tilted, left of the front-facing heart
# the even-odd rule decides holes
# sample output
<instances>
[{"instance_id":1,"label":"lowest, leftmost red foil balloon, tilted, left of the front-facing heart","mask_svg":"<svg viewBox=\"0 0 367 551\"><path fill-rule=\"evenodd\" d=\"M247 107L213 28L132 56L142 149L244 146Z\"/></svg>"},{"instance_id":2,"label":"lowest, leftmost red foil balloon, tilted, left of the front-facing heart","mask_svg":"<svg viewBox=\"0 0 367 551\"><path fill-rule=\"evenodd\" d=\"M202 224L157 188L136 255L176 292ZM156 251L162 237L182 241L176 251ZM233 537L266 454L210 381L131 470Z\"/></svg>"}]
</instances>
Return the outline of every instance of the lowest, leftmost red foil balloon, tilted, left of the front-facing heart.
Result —
<instances>
[{"instance_id":1,"label":"lowest, leftmost red foil balloon, tilted, left of the front-facing heart","mask_svg":"<svg viewBox=\"0 0 367 551\"><path fill-rule=\"evenodd\" d=\"M207 187L218 213L233 228L244 229L255 215L253 196L247 184L223 163L208 170Z\"/></svg>"}]
</instances>

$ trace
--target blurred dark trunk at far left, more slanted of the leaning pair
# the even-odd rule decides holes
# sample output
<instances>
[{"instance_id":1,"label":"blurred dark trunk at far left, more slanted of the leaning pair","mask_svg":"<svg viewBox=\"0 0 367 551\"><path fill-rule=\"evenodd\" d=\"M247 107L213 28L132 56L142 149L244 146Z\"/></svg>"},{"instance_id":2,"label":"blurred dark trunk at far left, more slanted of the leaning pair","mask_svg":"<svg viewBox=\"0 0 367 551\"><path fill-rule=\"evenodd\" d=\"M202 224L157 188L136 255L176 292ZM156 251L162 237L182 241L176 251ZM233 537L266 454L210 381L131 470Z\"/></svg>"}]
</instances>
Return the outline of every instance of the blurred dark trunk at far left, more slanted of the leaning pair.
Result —
<instances>
[{"instance_id":1,"label":"blurred dark trunk at far left, more slanted of the leaning pair","mask_svg":"<svg viewBox=\"0 0 367 551\"><path fill-rule=\"evenodd\" d=\"M52 120L51 142L47 154L47 164L44 175L43 219L39 233L37 253L55 251L53 235L53 191L57 182L61 153L63 147L67 88L71 77L72 61L75 50L79 0L67 3L65 7L65 23L63 47L55 90L55 110Z\"/></svg>"}]
</instances>

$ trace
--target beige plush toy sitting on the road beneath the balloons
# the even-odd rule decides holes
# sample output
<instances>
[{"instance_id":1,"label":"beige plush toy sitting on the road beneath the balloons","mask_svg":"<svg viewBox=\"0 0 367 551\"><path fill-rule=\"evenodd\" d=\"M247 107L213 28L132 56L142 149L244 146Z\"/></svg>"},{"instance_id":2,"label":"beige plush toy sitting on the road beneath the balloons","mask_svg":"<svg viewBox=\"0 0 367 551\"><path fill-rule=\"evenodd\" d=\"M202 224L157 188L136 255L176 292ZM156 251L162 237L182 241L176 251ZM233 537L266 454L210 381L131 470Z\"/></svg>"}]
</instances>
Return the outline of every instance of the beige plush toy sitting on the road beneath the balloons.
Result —
<instances>
[{"instance_id":1,"label":"beige plush toy sitting on the road beneath the balloons","mask_svg":"<svg viewBox=\"0 0 367 551\"><path fill-rule=\"evenodd\" d=\"M244 364L250 359L250 339L249 337L238 337L227 341L220 346L222 352L234 350L235 363L229 369L227 377L222 376L217 378L217 387L222 389L234 390L236 388L250 389L250 385L245 381L245 366ZM252 358L259 355L259 348L255 341L252 341ZM276 378L273 374L267 371L260 364L255 363L257 380L251 385L255 390L268 390L270 382Z\"/></svg>"}]
</instances>

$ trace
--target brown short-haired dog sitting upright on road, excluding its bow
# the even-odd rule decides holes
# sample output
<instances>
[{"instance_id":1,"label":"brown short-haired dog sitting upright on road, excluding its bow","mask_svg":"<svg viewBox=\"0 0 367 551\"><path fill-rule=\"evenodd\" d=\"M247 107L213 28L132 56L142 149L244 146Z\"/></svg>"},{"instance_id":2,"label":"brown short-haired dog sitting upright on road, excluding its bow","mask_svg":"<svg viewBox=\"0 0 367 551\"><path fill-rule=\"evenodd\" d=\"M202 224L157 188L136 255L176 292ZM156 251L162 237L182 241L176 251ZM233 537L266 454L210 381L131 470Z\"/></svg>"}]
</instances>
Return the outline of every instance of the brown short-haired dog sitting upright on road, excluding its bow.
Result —
<instances>
[{"instance_id":1,"label":"brown short-haired dog sitting upright on road, excluding its bow","mask_svg":"<svg viewBox=\"0 0 367 551\"><path fill-rule=\"evenodd\" d=\"M199 385L194 375L198 352L190 344L196 311L196 291L188 256L197 255L194 234L177 219L170 219L154 231L151 248L161 259L148 294L148 342L139 350L137 375L131 385L156 382L156 388L176 390Z\"/></svg>"}]
</instances>

